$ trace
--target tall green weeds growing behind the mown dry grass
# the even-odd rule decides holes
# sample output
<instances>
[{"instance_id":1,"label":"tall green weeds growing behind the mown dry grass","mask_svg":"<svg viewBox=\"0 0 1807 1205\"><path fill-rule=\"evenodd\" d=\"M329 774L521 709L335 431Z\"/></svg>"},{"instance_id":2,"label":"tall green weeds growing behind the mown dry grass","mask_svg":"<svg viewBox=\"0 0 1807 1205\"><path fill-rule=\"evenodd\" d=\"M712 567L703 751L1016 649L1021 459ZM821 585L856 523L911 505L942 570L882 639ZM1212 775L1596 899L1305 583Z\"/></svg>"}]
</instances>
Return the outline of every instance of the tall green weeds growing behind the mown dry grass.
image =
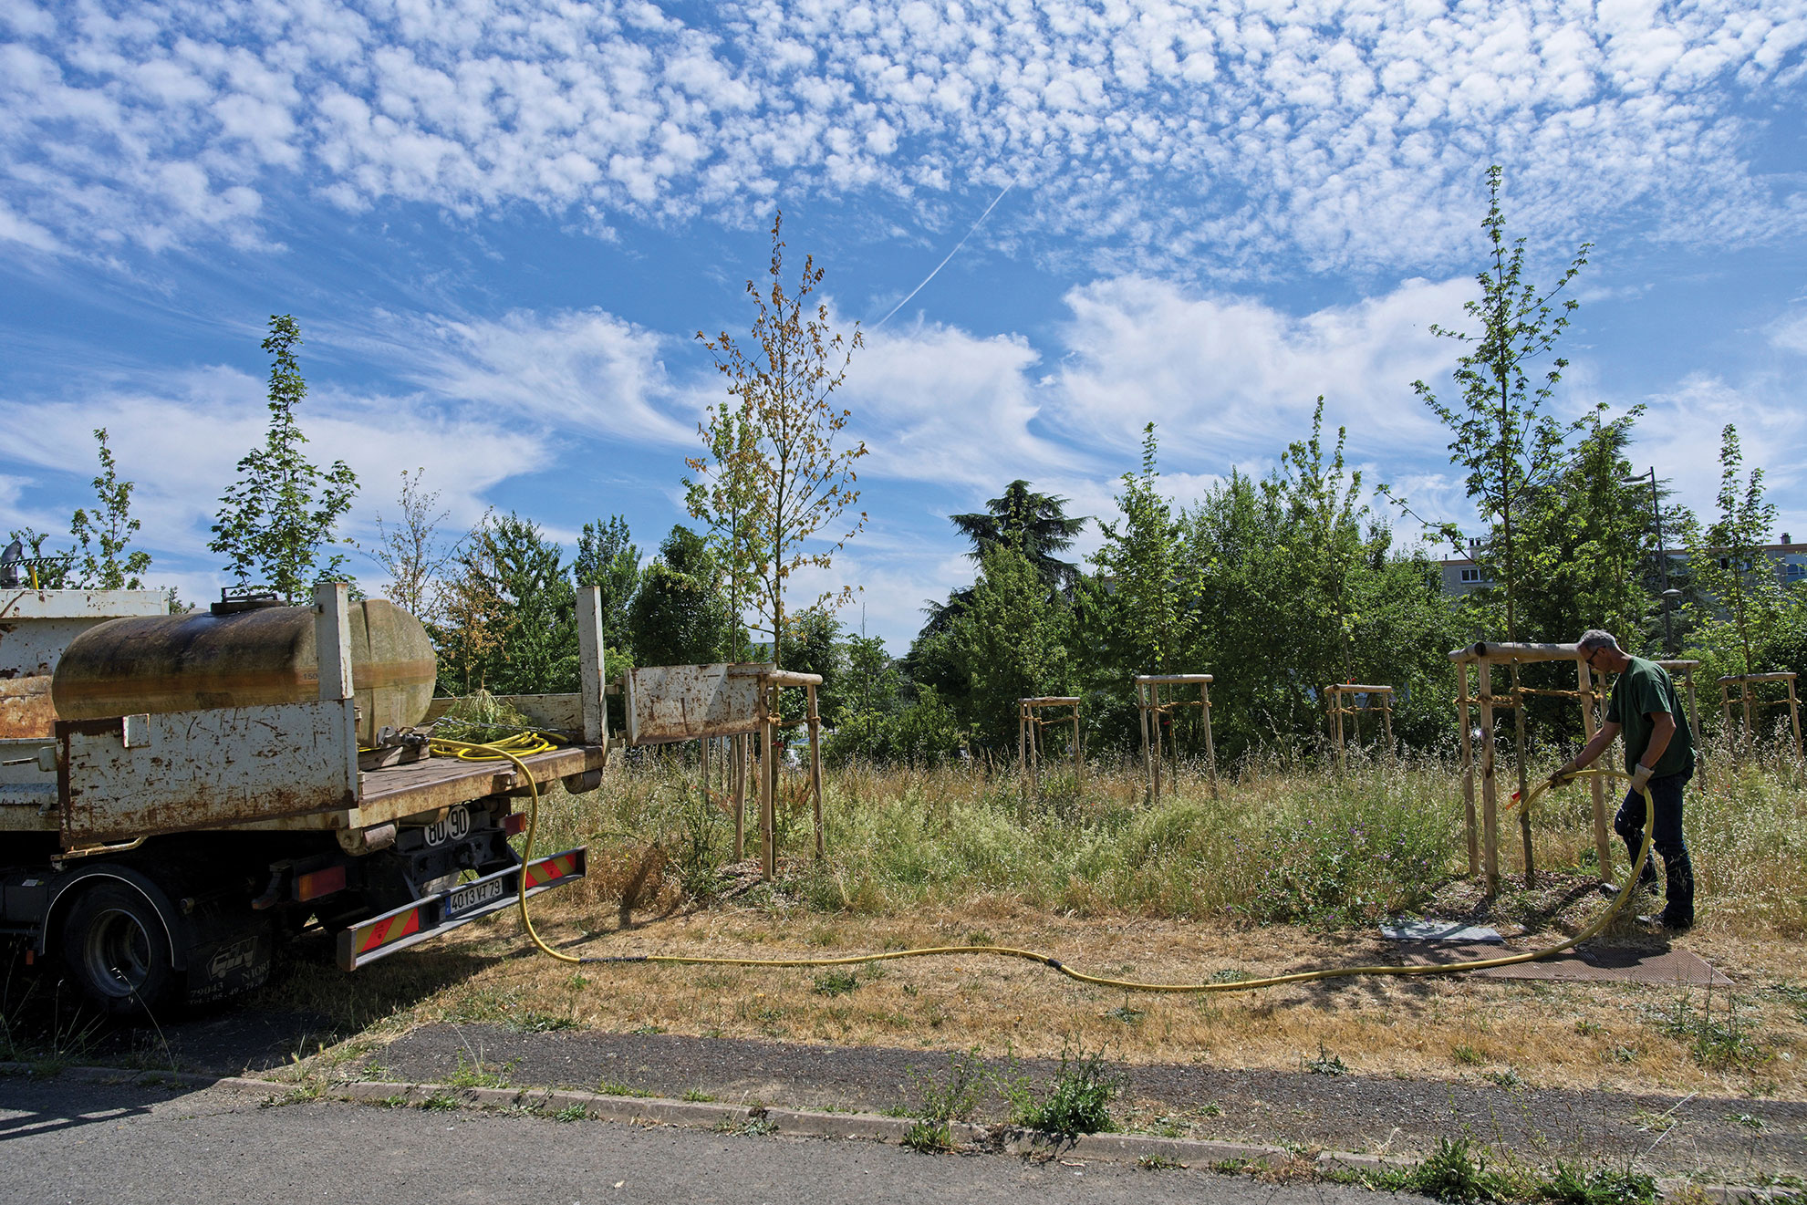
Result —
<instances>
[{"instance_id":1,"label":"tall green weeds growing behind the mown dry grass","mask_svg":"<svg viewBox=\"0 0 1807 1205\"><path fill-rule=\"evenodd\" d=\"M1803 777L1798 759L1735 762L1715 752L1704 762L1690 788L1688 840L1715 923L1807 932ZM824 779L822 864L802 786L801 775L786 784L779 847L804 901L826 911L992 896L1072 914L1348 925L1411 911L1467 869L1460 779L1437 757L1353 757L1346 775L1250 759L1223 773L1216 793L1202 766L1182 766L1158 806L1144 802L1137 761L1090 764L1081 782L1044 775L1039 793L1010 771L851 762ZM1502 827L1509 855L1516 826ZM542 836L658 844L683 865L690 892L707 894L710 862L730 855L732 818L721 799L703 797L694 761L643 755L600 791L551 797ZM1592 865L1585 788L1540 800L1534 844L1540 867ZM748 851L757 851L752 802Z\"/></svg>"}]
</instances>

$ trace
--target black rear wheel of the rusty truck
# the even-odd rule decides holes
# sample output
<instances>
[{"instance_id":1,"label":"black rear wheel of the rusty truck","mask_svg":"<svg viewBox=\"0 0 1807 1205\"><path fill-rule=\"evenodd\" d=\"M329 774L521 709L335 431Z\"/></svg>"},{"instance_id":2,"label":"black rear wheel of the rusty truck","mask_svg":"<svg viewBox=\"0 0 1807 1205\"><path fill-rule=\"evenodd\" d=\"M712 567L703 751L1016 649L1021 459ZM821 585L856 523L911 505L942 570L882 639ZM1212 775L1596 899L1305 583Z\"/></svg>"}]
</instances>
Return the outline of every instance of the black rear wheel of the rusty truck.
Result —
<instances>
[{"instance_id":1,"label":"black rear wheel of the rusty truck","mask_svg":"<svg viewBox=\"0 0 1807 1205\"><path fill-rule=\"evenodd\" d=\"M139 892L96 883L63 921L63 970L114 1017L150 1014L177 985L163 920Z\"/></svg>"}]
</instances>

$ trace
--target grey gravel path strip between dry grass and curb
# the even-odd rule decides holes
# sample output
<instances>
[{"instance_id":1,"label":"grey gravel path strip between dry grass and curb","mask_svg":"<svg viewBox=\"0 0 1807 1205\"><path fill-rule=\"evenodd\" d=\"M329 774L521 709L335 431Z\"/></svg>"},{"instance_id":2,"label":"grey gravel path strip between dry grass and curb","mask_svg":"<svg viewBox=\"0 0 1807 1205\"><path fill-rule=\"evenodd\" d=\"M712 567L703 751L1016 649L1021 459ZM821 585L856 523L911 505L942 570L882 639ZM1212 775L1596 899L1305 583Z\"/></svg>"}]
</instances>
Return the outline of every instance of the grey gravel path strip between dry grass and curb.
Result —
<instances>
[{"instance_id":1,"label":"grey gravel path strip between dry grass and curb","mask_svg":"<svg viewBox=\"0 0 1807 1205\"><path fill-rule=\"evenodd\" d=\"M909 1107L920 1098L916 1079L941 1080L949 1068L945 1051L434 1024L383 1048L361 1071L445 1082L479 1062L511 1086L616 1086L658 1097L707 1093L728 1102L875 1113ZM1041 1080L1055 1066L1037 1059L1017 1070ZM1128 1075L1129 1126L1160 1129L1156 1118L1164 1118L1184 1129L1175 1136L1415 1154L1437 1138L1465 1135L1538 1162L1624 1165L1635 1158L1661 1174L1715 1180L1807 1174L1807 1102L1175 1064L1129 1066ZM1003 1120L996 1093L981 1102L976 1120Z\"/></svg>"}]
</instances>

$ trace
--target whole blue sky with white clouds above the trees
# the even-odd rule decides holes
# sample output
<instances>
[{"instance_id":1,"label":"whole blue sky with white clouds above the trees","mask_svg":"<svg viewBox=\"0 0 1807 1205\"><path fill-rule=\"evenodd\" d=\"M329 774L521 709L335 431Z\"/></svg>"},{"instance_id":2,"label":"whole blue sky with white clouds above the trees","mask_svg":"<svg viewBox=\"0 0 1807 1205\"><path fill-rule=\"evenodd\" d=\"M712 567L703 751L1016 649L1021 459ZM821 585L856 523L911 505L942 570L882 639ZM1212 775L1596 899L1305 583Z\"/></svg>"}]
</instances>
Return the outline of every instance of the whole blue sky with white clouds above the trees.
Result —
<instances>
[{"instance_id":1,"label":"whole blue sky with white clouds above the trees","mask_svg":"<svg viewBox=\"0 0 1807 1205\"><path fill-rule=\"evenodd\" d=\"M1536 280L1592 244L1556 410L1644 406L1700 511L1735 423L1807 538L1803 101L1807 0L0 0L0 529L67 533L105 426L150 580L215 596L295 314L363 547L419 468L448 535L651 553L779 210L864 340L869 518L795 598L857 587L894 652L972 578L950 513L1109 518L1146 423L1185 504L1323 396L1364 482L1478 529L1411 383L1455 397L1500 164Z\"/></svg>"}]
</instances>

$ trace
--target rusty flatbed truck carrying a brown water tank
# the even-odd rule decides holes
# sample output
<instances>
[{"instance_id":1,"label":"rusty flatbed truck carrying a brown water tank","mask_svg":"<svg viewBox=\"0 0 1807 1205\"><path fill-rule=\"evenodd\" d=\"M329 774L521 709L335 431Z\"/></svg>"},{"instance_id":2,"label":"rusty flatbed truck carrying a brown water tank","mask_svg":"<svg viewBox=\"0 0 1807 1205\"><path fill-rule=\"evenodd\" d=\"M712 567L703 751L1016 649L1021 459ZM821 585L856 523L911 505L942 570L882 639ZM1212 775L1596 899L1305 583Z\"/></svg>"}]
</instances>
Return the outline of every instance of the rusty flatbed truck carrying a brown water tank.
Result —
<instances>
[{"instance_id":1,"label":"rusty flatbed truck carrying a brown water tank","mask_svg":"<svg viewBox=\"0 0 1807 1205\"><path fill-rule=\"evenodd\" d=\"M188 614L0 589L0 936L155 1015L260 986L307 930L351 972L576 882L584 847L510 844L535 786L609 761L598 591L576 611L580 690L508 697L555 744L517 766L434 755L425 629L345 584Z\"/></svg>"}]
</instances>

